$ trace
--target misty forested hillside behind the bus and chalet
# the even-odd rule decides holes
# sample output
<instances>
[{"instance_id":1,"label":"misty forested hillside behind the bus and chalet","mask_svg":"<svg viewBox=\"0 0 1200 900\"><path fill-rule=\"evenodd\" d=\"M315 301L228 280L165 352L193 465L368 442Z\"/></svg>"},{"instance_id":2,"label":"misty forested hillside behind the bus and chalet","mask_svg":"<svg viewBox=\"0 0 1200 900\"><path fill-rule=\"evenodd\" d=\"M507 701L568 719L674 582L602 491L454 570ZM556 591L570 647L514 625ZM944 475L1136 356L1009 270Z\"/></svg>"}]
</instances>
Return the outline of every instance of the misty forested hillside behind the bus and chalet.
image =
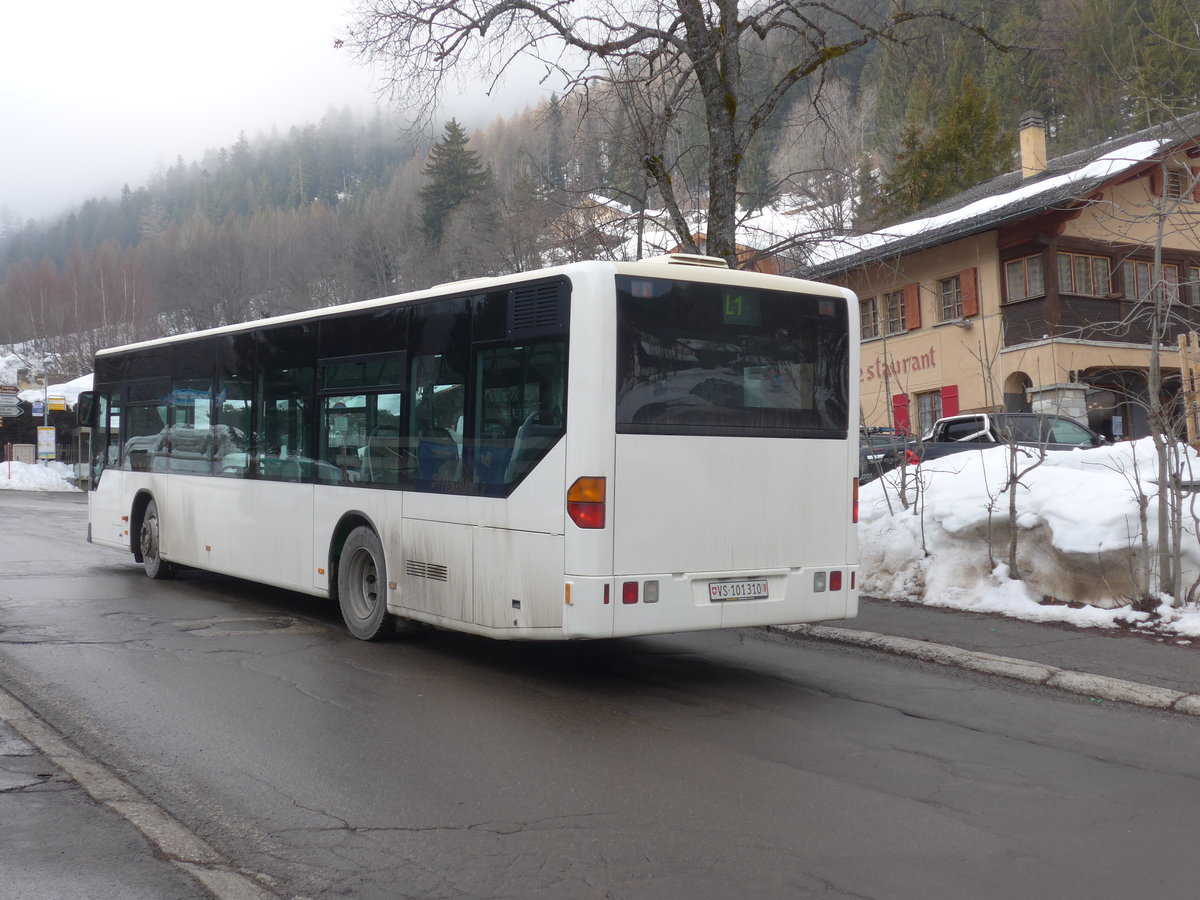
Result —
<instances>
[{"instance_id":1,"label":"misty forested hillside behind the bus and chalet","mask_svg":"<svg viewBox=\"0 0 1200 900\"><path fill-rule=\"evenodd\" d=\"M718 205L736 222L803 212L791 233L738 232L786 271L814 239L1012 169L1027 109L1061 155L1200 106L1187 0L953 0L938 7L953 14L886 32L870 17L888 5L842 6L816 31L740 34L733 132L714 128L722 113L700 70L680 68L686 54L653 71L608 55L576 90L481 130L330 112L239 134L56 221L0 222L0 344L70 376L100 347L164 332L686 247ZM715 164L722 133L738 136L732 174Z\"/></svg>"}]
</instances>

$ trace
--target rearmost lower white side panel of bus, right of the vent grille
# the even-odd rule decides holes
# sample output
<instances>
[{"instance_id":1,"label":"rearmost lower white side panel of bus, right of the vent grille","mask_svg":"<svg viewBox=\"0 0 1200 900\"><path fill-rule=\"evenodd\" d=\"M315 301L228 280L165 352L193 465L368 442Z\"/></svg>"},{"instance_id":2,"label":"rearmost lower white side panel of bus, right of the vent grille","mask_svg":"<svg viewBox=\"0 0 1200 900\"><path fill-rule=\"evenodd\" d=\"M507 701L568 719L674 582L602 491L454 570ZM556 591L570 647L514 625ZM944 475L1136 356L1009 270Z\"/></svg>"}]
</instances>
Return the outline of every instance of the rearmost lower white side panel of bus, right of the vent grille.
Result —
<instances>
[{"instance_id":1,"label":"rearmost lower white side panel of bus, right of the vent grille","mask_svg":"<svg viewBox=\"0 0 1200 900\"><path fill-rule=\"evenodd\" d=\"M562 628L563 535L475 529L475 623Z\"/></svg>"}]
</instances>

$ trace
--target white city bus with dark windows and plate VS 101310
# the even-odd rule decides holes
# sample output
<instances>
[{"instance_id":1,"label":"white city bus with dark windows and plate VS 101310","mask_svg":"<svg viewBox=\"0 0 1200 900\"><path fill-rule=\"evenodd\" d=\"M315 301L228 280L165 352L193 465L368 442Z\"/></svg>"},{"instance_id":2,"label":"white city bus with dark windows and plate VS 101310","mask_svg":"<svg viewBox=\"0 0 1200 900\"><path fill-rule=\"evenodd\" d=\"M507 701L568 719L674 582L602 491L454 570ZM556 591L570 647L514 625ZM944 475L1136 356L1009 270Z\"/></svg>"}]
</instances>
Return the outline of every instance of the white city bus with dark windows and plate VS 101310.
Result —
<instances>
[{"instance_id":1,"label":"white city bus with dark windows and plate VS 101310","mask_svg":"<svg viewBox=\"0 0 1200 900\"><path fill-rule=\"evenodd\" d=\"M856 614L857 300L665 257L102 350L89 540L498 638Z\"/></svg>"}]
</instances>

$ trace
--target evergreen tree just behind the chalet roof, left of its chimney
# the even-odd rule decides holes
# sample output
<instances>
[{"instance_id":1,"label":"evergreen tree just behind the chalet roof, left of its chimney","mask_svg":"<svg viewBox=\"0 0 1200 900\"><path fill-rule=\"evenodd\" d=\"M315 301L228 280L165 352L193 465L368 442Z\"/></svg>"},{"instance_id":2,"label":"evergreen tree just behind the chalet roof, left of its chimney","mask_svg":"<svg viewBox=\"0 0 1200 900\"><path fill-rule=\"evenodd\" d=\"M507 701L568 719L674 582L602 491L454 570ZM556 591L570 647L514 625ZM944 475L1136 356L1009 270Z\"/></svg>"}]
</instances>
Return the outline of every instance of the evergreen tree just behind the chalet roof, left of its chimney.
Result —
<instances>
[{"instance_id":1,"label":"evergreen tree just behind the chalet roof, left of its chimney","mask_svg":"<svg viewBox=\"0 0 1200 900\"><path fill-rule=\"evenodd\" d=\"M966 78L932 130L905 127L900 151L881 179L880 217L907 218L994 178L1008 167L1012 154L1013 136L1001 126L996 102Z\"/></svg>"}]
</instances>

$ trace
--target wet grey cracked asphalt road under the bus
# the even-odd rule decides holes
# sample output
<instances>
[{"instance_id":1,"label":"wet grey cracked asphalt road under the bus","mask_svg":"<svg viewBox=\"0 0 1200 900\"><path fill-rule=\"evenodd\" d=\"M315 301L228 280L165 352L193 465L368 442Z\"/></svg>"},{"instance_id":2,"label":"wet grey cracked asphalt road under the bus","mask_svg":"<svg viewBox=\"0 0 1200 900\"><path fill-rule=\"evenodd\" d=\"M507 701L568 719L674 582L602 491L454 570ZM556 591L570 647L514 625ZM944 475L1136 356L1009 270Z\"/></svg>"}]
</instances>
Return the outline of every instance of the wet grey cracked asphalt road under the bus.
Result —
<instances>
[{"instance_id":1,"label":"wet grey cracked asphalt road under the bus","mask_svg":"<svg viewBox=\"0 0 1200 900\"><path fill-rule=\"evenodd\" d=\"M0 678L281 896L1195 895L1193 716L760 631L365 644L80 499L0 492Z\"/></svg>"}]
</instances>

